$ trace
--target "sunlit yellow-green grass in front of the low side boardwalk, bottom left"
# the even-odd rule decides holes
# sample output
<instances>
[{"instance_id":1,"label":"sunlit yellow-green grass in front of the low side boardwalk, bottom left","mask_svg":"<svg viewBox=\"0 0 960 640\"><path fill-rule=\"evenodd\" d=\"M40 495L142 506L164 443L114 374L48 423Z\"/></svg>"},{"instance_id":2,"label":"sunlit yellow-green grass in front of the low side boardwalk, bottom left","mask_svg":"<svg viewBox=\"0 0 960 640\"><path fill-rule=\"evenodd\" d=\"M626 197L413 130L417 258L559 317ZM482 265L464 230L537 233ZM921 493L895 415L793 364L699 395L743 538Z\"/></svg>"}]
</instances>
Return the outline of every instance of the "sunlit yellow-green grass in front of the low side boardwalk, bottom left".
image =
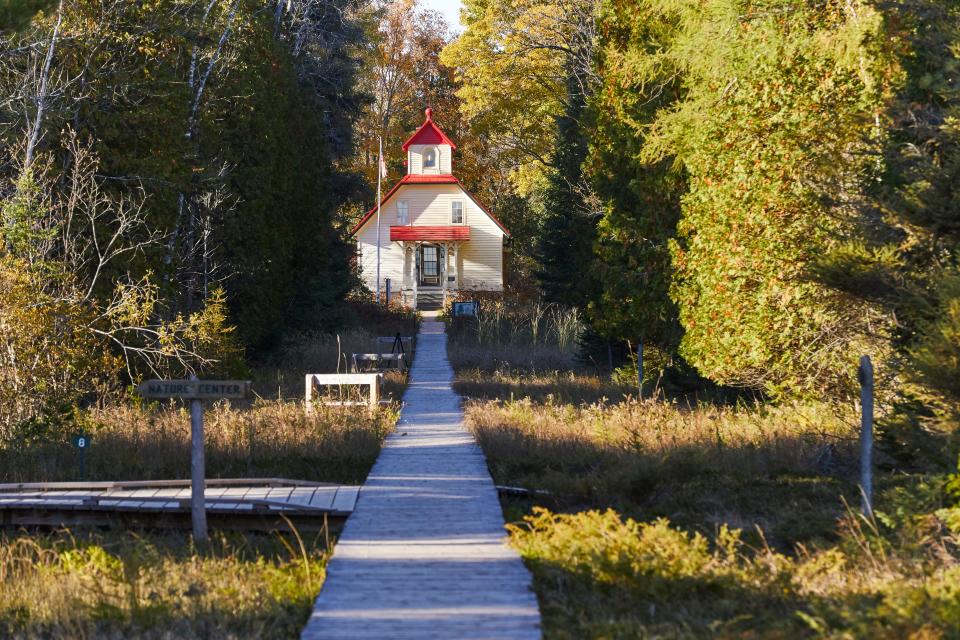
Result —
<instances>
[{"instance_id":1,"label":"sunlit yellow-green grass in front of the low side boardwalk, bottom left","mask_svg":"<svg viewBox=\"0 0 960 640\"><path fill-rule=\"evenodd\" d=\"M215 533L0 534L0 637L296 638L322 539Z\"/></svg>"}]
</instances>

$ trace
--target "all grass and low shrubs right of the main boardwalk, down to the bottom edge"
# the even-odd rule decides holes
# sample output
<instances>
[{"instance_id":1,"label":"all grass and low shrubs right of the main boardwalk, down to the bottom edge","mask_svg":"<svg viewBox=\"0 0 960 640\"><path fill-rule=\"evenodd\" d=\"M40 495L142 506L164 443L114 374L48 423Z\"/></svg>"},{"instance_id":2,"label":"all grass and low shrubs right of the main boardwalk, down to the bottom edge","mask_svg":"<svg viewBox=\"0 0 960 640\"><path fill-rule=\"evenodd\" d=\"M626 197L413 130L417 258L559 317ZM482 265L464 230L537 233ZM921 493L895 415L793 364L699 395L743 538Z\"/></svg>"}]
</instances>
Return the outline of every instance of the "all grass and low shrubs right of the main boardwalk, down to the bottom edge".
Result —
<instances>
[{"instance_id":1,"label":"all grass and low shrubs right of the main boardwalk, down to the bottom edge","mask_svg":"<svg viewBox=\"0 0 960 640\"><path fill-rule=\"evenodd\" d=\"M878 476L850 410L473 400L546 638L958 638L960 508ZM548 510L549 509L549 510Z\"/></svg>"}]
</instances>

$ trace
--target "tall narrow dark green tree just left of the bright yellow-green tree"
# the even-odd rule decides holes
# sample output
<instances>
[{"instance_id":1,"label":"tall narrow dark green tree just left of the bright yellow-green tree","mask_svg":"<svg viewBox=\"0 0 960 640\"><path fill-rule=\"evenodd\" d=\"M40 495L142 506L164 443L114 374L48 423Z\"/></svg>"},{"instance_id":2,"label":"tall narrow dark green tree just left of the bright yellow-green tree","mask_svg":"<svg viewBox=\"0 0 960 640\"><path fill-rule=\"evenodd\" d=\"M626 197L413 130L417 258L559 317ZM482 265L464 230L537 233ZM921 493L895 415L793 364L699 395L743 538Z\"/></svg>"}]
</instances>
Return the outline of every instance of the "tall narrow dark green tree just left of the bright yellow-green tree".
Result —
<instances>
[{"instance_id":1,"label":"tall narrow dark green tree just left of the bright yellow-green tree","mask_svg":"<svg viewBox=\"0 0 960 640\"><path fill-rule=\"evenodd\" d=\"M682 332L668 295L668 241L676 234L685 181L669 160L641 158L642 123L681 95L669 68L660 68L655 80L648 77L647 56L669 42L674 26L656 14L637 19L635 9L634 2L608 2L600 16L597 68L603 84L591 101L596 124L586 169L603 216L593 258L600 292L591 301L590 319L614 339L642 338L675 353Z\"/></svg>"}]
</instances>

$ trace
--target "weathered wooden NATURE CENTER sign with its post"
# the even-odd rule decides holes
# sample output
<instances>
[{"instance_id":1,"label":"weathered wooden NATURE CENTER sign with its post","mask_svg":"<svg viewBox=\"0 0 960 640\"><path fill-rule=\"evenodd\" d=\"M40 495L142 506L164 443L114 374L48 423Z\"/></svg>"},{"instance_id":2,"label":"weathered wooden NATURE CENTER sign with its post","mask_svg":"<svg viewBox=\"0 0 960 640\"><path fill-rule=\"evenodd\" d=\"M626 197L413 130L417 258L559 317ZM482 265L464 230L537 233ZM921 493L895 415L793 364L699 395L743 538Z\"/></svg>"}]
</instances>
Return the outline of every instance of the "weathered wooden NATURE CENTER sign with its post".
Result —
<instances>
[{"instance_id":1,"label":"weathered wooden NATURE CENTER sign with its post","mask_svg":"<svg viewBox=\"0 0 960 640\"><path fill-rule=\"evenodd\" d=\"M206 468L203 455L202 400L244 398L250 392L248 380L147 380L137 386L144 398L180 398L190 401L190 518L193 539L197 544L207 542L207 510L204 500Z\"/></svg>"}]
</instances>

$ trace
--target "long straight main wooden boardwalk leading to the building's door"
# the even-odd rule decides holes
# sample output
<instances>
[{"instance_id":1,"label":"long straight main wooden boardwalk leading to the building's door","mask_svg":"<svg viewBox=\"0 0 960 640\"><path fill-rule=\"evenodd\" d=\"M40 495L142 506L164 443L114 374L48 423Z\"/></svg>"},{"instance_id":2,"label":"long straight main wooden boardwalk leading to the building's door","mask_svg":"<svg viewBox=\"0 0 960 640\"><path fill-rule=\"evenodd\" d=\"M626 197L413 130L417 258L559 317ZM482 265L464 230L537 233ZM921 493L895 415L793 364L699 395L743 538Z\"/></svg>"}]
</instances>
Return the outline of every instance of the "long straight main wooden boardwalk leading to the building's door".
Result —
<instances>
[{"instance_id":1,"label":"long straight main wooden boardwalk leading to the building's door","mask_svg":"<svg viewBox=\"0 0 960 640\"><path fill-rule=\"evenodd\" d=\"M496 489L451 388L443 323L423 323L410 375L302 638L539 638L530 574L505 544Z\"/></svg>"}]
</instances>

